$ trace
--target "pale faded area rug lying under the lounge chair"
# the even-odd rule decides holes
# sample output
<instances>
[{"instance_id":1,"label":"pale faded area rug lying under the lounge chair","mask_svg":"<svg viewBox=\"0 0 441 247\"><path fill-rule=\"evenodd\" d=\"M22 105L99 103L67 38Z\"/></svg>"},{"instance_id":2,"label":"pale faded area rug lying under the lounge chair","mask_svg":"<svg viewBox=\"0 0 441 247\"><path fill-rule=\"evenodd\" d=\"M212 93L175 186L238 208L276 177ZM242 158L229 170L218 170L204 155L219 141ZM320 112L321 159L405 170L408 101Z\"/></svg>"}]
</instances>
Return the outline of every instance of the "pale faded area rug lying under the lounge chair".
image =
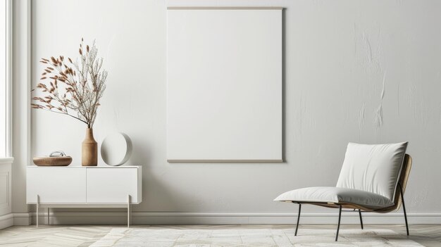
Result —
<instances>
[{"instance_id":1,"label":"pale faded area rug lying under the lounge chair","mask_svg":"<svg viewBox=\"0 0 441 247\"><path fill-rule=\"evenodd\" d=\"M421 246L392 230L300 229L112 229L91 247L133 246Z\"/></svg>"}]
</instances>

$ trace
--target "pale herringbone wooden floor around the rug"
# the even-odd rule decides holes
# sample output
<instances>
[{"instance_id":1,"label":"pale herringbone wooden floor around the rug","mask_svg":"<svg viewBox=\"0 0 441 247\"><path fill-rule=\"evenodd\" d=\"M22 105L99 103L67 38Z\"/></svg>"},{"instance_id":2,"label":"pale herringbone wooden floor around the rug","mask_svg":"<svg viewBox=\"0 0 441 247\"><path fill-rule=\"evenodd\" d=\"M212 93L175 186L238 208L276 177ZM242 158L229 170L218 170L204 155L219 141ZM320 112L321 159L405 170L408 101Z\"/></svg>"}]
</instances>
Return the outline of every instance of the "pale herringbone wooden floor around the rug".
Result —
<instances>
[{"instance_id":1,"label":"pale herringbone wooden floor around the rug","mask_svg":"<svg viewBox=\"0 0 441 247\"><path fill-rule=\"evenodd\" d=\"M146 228L148 225L135 225L132 228ZM158 227L158 226L156 226ZM163 227L179 229L234 229L238 225L169 225ZM287 229L294 227L287 224L247 224L241 228L249 229ZM299 229L335 229L333 224L305 224ZM40 225L16 226L0 230L0 247L28 246L89 246L101 239L113 228L125 228L123 225ZM342 225L341 229L359 229L357 224ZM365 229L391 229L405 235L404 225L397 224L365 224ZM441 224L414 224L410 226L412 239L423 246L441 246ZM300 231L300 230L299 230Z\"/></svg>"}]
</instances>

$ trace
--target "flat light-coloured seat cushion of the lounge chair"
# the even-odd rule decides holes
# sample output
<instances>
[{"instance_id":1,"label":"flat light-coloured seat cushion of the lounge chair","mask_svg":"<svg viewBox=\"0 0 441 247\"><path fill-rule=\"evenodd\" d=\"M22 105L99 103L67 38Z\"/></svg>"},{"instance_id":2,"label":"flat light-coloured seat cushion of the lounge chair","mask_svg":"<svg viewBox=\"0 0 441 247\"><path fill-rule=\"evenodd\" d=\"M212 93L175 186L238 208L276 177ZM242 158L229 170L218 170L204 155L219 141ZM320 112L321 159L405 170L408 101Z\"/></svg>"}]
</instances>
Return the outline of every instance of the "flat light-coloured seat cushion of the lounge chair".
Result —
<instances>
[{"instance_id":1,"label":"flat light-coloured seat cushion of the lounge chair","mask_svg":"<svg viewBox=\"0 0 441 247\"><path fill-rule=\"evenodd\" d=\"M352 203L364 208L379 209L393 205L385 196L358 189L337 187L309 187L287 191L274 201L294 201L308 203Z\"/></svg>"}]
</instances>

